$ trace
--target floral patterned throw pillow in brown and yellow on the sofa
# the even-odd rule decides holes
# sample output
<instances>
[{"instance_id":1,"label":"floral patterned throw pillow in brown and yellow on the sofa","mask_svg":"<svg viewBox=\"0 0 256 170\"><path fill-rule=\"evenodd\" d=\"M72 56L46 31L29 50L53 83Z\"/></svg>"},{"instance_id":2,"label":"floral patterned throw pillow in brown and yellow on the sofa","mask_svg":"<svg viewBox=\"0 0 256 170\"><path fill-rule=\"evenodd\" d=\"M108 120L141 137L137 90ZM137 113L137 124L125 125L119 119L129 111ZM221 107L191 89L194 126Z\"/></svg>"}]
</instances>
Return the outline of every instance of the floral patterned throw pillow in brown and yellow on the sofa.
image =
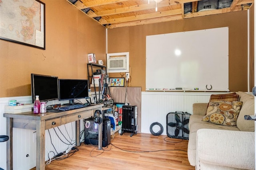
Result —
<instances>
[{"instance_id":1,"label":"floral patterned throw pillow in brown and yellow on the sofa","mask_svg":"<svg viewBox=\"0 0 256 170\"><path fill-rule=\"evenodd\" d=\"M215 124L236 126L236 121L243 102L214 101L210 102L202 121Z\"/></svg>"}]
</instances>

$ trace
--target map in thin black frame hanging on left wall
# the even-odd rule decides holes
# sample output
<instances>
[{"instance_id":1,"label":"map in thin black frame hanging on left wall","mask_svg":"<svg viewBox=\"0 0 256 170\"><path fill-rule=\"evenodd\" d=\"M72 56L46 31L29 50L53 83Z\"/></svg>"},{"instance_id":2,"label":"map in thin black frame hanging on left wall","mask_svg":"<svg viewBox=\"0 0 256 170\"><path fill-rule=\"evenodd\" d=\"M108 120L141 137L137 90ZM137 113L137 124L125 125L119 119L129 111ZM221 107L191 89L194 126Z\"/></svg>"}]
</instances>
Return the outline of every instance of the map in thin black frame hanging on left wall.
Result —
<instances>
[{"instance_id":1,"label":"map in thin black frame hanging on left wall","mask_svg":"<svg viewBox=\"0 0 256 170\"><path fill-rule=\"evenodd\" d=\"M0 39L45 49L45 4L0 0Z\"/></svg>"}]
</instances>

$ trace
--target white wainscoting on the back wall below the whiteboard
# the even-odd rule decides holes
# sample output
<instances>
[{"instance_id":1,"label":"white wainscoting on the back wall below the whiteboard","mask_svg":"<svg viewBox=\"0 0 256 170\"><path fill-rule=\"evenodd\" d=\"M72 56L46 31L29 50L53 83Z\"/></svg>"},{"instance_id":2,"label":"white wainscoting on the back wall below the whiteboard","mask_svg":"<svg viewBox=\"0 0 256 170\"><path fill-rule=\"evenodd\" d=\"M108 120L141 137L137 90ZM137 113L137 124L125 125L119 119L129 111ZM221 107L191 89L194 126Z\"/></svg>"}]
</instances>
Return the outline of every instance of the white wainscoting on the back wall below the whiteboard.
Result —
<instances>
[{"instance_id":1,"label":"white wainscoting on the back wall below the whiteboard","mask_svg":"<svg viewBox=\"0 0 256 170\"><path fill-rule=\"evenodd\" d=\"M162 135L166 135L168 113L184 111L193 114L193 103L208 103L211 94L223 92L142 92L141 132L150 133L150 125L158 122L164 128Z\"/></svg>"}]
</instances>

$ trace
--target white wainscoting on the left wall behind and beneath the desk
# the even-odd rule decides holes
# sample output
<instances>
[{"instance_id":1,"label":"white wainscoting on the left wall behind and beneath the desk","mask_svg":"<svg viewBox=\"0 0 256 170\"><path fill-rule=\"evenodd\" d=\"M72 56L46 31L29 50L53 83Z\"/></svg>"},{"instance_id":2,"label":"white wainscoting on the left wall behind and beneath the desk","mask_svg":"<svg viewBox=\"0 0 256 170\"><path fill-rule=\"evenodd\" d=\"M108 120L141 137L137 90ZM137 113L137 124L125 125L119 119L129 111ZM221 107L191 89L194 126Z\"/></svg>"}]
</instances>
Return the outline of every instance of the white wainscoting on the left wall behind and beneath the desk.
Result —
<instances>
[{"instance_id":1,"label":"white wainscoting on the left wall behind and beneath the desk","mask_svg":"<svg viewBox=\"0 0 256 170\"><path fill-rule=\"evenodd\" d=\"M3 117L4 106L8 106L9 100L17 100L19 103L31 104L31 96L0 98L0 135L6 135L6 118ZM82 101L83 102L83 101ZM49 101L47 105L64 104L68 101ZM81 131L84 130L84 124L81 122ZM55 132L56 131L56 132ZM34 130L13 129L13 170L28 170L36 166L36 135ZM50 135L49 135L50 132ZM58 136L56 135L58 134ZM63 134L63 135L62 135ZM51 136L51 137L50 137ZM62 142L60 139L64 142ZM75 122L67 123L56 128L45 131L45 160L48 160L48 150L52 151L49 157L56 153L64 152L68 149L68 143L74 143ZM81 139L81 141L83 141ZM66 143L66 144L65 144ZM54 147L55 149L54 149ZM0 143L0 168L6 170L6 142ZM54 154L53 154L54 152ZM27 156L28 155L28 156Z\"/></svg>"}]
</instances>

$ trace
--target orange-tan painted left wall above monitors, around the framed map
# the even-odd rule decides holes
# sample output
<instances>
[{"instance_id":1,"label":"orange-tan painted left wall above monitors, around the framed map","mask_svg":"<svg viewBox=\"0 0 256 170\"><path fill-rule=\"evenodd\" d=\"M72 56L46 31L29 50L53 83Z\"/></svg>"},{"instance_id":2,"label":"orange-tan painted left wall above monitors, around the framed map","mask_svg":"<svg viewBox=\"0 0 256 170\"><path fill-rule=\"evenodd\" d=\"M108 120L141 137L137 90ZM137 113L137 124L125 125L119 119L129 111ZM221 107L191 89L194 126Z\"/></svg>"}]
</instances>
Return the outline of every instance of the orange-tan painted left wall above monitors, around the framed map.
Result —
<instances>
[{"instance_id":1,"label":"orange-tan painted left wall above monitors, around the framed map","mask_svg":"<svg viewBox=\"0 0 256 170\"><path fill-rule=\"evenodd\" d=\"M66 0L46 5L46 50L0 40L0 97L30 96L30 74L87 79L88 53L106 63L106 29Z\"/></svg>"}]
</instances>

